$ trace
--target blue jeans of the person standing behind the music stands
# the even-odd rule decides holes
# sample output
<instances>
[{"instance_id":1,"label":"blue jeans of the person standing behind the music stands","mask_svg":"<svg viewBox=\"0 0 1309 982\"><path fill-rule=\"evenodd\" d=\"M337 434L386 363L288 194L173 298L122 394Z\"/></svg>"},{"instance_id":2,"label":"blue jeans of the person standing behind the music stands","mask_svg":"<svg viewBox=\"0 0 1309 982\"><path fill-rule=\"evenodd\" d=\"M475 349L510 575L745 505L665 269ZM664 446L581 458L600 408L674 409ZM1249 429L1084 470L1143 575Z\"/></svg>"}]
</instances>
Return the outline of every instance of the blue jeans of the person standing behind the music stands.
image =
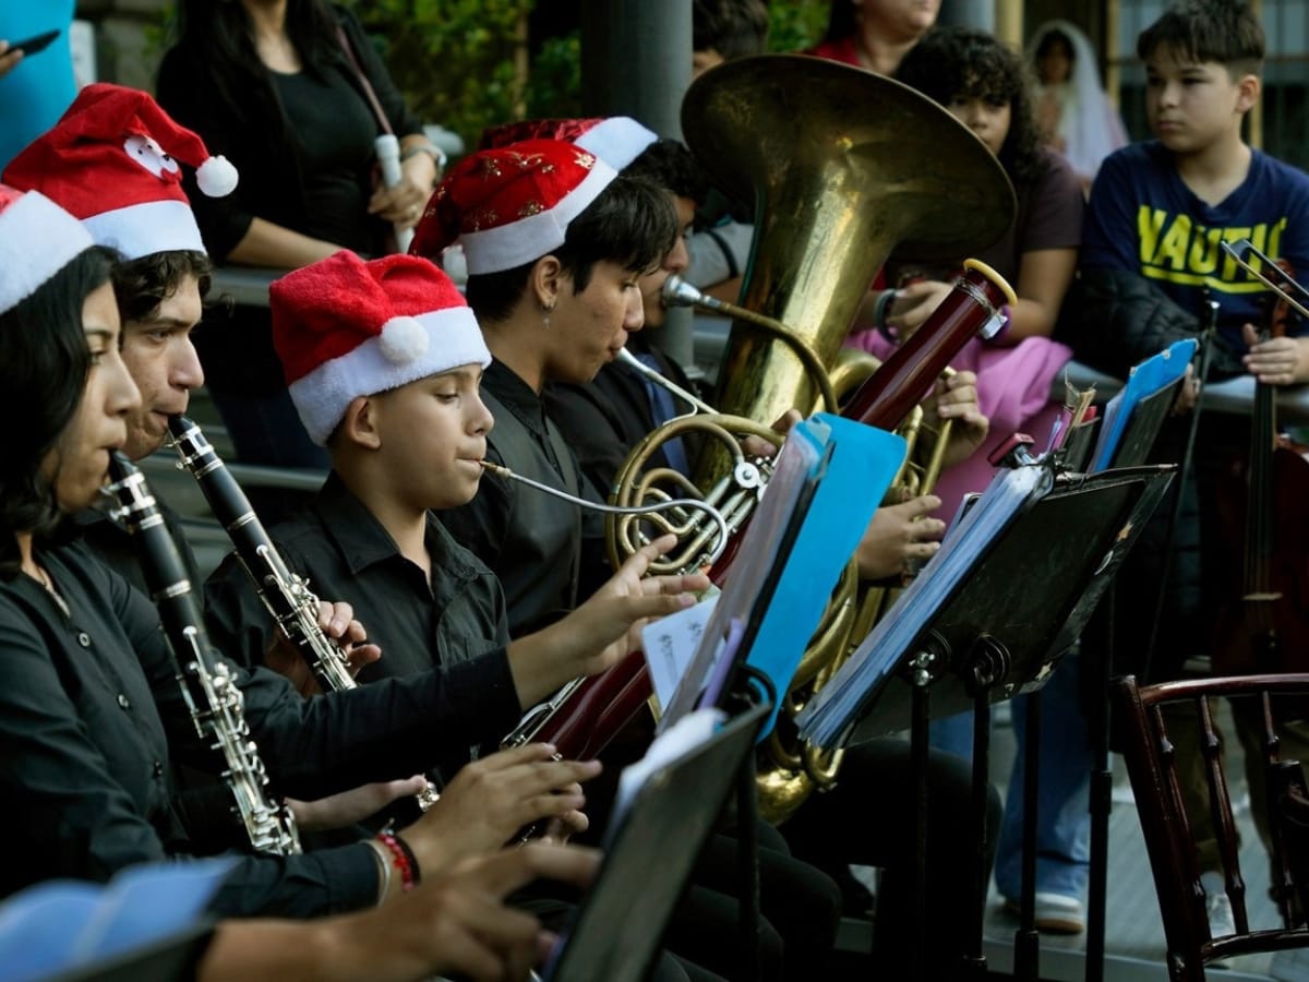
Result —
<instances>
[{"instance_id":1,"label":"blue jeans of the person standing behind the music stands","mask_svg":"<svg viewBox=\"0 0 1309 982\"><path fill-rule=\"evenodd\" d=\"M1022 896L1022 784L1026 773L1028 697L1013 700L1018 752L1009 774L995 884ZM932 723L932 746L973 759L973 715ZM1068 652L1041 690L1041 771L1037 782L1037 890L1081 900L1090 859L1090 738L1081 702L1081 670Z\"/></svg>"}]
</instances>

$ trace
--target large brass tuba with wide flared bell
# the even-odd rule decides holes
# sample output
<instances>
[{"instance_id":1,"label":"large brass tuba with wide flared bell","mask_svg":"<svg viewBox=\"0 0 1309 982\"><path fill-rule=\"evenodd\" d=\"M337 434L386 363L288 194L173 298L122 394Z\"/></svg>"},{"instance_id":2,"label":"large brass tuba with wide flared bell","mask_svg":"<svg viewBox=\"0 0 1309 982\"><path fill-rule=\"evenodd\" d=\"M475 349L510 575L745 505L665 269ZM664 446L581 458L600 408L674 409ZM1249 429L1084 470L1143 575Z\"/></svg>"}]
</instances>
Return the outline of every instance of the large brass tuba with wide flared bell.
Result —
<instances>
[{"instance_id":1,"label":"large brass tuba with wide flared bell","mask_svg":"<svg viewBox=\"0 0 1309 982\"><path fill-rule=\"evenodd\" d=\"M729 62L687 90L682 130L715 182L754 202L745 310L732 312L712 402L720 414L757 424L792 407L822 406L840 394L842 378L863 380L867 363L851 367L839 352L893 251L906 261L957 261L990 246L1013 221L1013 189L980 140L918 92L848 65L802 55ZM779 327L789 336L779 339ZM827 377L814 377L812 367ZM648 443L640 448L647 456ZM709 441L696 462L702 491L720 494L730 479L734 461L720 443ZM630 457L623 470L639 469ZM647 490L639 474L624 473L615 496L639 500ZM771 821L835 774L835 762L795 746L787 731L806 695L867 634L872 600L859 591L851 563L783 697L772 761L761 763L761 813Z\"/></svg>"}]
</instances>

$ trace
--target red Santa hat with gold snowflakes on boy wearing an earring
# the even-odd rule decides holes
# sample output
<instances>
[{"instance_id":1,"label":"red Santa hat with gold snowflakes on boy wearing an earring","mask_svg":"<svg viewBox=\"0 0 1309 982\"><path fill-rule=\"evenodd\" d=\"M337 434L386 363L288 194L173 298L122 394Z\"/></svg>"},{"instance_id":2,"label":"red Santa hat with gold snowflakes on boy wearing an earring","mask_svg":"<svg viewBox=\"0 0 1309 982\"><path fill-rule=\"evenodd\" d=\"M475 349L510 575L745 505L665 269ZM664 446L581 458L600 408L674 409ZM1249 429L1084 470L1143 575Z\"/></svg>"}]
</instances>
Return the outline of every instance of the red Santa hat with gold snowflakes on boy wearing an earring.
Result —
<instances>
[{"instance_id":1,"label":"red Santa hat with gold snowflakes on boy wearing an earring","mask_svg":"<svg viewBox=\"0 0 1309 982\"><path fill-rule=\"evenodd\" d=\"M410 253L436 258L459 241L469 275L524 266L564 244L568 223L618 172L562 140L471 153L437 185Z\"/></svg>"}]
</instances>

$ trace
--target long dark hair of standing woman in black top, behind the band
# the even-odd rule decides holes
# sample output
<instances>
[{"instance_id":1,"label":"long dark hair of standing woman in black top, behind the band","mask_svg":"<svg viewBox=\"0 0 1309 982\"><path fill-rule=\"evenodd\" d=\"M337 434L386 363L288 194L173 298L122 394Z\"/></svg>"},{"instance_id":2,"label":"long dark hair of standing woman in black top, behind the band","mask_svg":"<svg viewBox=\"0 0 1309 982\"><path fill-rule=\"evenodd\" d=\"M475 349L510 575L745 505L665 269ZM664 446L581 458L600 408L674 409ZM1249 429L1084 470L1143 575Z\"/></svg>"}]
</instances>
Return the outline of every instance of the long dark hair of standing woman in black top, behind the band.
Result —
<instances>
[{"instance_id":1,"label":"long dark hair of standing woman in black top, behind the band","mask_svg":"<svg viewBox=\"0 0 1309 982\"><path fill-rule=\"evenodd\" d=\"M305 71L319 79L343 58L336 16L326 0L288 0L287 35ZM181 0L178 47L209 67L216 102L236 107L245 122L285 131L281 100L255 51L250 14L238 0Z\"/></svg>"}]
</instances>

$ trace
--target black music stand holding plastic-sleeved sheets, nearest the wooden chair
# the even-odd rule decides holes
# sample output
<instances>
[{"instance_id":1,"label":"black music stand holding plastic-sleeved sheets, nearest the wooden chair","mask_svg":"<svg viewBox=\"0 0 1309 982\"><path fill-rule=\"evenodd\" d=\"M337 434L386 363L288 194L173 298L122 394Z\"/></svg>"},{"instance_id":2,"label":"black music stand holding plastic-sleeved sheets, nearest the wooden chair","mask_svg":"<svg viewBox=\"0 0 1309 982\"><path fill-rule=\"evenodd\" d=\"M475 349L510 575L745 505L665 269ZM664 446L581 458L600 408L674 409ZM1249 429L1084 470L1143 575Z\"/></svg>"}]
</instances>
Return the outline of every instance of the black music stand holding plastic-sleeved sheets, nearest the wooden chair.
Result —
<instances>
[{"instance_id":1,"label":"black music stand holding plastic-sleeved sheets, nearest the wooden chair","mask_svg":"<svg viewBox=\"0 0 1309 982\"><path fill-rule=\"evenodd\" d=\"M967 708L977 714L973 812L979 917L969 968L978 978L986 975L980 913L988 880L984 856L991 703L1045 685L1059 657L1077 640L1170 475L1170 467L1060 475L1051 490L1030 500L988 545L969 576L927 619L910 648L898 655L898 668L885 683L864 694L863 719L843 741L857 744L910 727L918 782L918 864L919 872L925 873L928 721ZM1031 543L1042 547L1033 550ZM1051 543L1060 547L1043 547ZM1025 907L1031 905L1033 893L1028 872L1024 869ZM1034 865L1030 873L1034 882ZM925 900L920 876L915 897L916 978L922 978L927 943ZM1035 932L1030 935L1034 937ZM1034 969L1031 951L1030 944L1020 945L1017 961L1026 956Z\"/></svg>"}]
</instances>

